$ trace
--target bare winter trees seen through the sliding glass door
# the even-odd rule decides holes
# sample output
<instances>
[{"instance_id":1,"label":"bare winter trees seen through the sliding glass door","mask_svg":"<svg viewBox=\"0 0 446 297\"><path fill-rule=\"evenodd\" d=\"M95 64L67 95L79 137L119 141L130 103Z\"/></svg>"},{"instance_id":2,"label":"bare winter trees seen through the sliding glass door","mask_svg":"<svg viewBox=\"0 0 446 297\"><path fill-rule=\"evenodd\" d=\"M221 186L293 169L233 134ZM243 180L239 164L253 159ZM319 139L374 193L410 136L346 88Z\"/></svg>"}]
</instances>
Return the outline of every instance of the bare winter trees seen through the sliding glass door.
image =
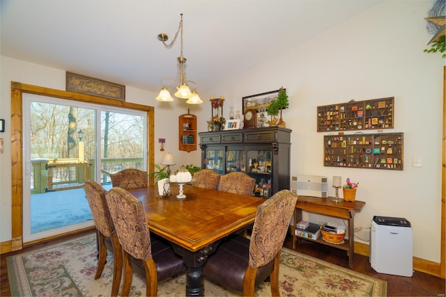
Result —
<instances>
[{"instance_id":1,"label":"bare winter trees seen through the sliding glass door","mask_svg":"<svg viewBox=\"0 0 446 297\"><path fill-rule=\"evenodd\" d=\"M31 102L31 161L97 164L96 150L100 149L101 168L107 173L124 168L144 169L144 116L102 111L98 141L96 113L95 109ZM56 172L55 168L54 178L75 177L78 174L73 170L61 168ZM107 176L102 177L102 182L108 180Z\"/></svg>"}]
</instances>

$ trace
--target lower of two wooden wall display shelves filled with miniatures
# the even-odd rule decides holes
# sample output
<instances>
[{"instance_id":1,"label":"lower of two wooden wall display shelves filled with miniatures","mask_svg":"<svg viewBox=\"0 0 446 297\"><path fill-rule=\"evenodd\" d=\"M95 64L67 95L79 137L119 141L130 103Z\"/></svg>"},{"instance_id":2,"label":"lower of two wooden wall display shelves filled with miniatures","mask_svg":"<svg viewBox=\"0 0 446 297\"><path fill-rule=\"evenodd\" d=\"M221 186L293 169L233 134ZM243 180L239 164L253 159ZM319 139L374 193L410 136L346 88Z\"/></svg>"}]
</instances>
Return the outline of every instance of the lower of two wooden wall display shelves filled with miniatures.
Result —
<instances>
[{"instance_id":1,"label":"lower of two wooden wall display shelves filled with miniatures","mask_svg":"<svg viewBox=\"0 0 446 297\"><path fill-rule=\"evenodd\" d=\"M324 166L403 170L403 133L327 135Z\"/></svg>"}]
</instances>

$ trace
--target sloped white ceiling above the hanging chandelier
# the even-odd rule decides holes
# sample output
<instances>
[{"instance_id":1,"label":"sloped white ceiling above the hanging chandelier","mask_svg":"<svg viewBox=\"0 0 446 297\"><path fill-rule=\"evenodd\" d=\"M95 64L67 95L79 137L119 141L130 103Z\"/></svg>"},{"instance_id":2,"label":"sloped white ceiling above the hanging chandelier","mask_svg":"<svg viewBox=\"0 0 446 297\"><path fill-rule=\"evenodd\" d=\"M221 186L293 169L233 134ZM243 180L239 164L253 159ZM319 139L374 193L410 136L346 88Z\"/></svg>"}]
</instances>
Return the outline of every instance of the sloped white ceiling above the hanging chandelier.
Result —
<instances>
[{"instance_id":1,"label":"sloped white ceiling above the hanging chandelier","mask_svg":"<svg viewBox=\"0 0 446 297\"><path fill-rule=\"evenodd\" d=\"M198 92L279 55L378 0L1 0L1 55L157 92L176 75L183 13Z\"/></svg>"}]
</instances>

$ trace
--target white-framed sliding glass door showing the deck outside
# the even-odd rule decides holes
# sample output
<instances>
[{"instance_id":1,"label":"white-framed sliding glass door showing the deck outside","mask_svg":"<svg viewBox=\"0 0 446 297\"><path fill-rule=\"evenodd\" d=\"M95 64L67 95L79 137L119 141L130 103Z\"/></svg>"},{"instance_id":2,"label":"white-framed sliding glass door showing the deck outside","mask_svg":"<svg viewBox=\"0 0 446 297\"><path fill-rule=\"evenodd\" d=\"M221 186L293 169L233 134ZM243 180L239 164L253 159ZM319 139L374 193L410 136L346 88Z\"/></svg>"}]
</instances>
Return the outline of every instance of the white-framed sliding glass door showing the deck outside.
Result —
<instances>
[{"instance_id":1,"label":"white-framed sliding glass door showing the deck outside","mask_svg":"<svg viewBox=\"0 0 446 297\"><path fill-rule=\"evenodd\" d=\"M24 95L24 242L94 225L84 182L145 168L146 113Z\"/></svg>"}]
</instances>

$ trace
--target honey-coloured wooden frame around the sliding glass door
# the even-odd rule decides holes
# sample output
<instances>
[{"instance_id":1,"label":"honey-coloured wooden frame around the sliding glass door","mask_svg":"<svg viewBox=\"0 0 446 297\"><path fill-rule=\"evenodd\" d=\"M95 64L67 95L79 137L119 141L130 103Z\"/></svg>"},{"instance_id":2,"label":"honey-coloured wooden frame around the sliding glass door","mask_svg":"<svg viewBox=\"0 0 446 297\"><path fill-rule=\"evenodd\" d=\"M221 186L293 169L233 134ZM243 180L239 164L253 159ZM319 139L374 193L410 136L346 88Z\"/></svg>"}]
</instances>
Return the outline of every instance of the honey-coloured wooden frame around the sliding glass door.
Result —
<instances>
[{"instance_id":1,"label":"honey-coloured wooden frame around the sliding glass door","mask_svg":"<svg viewBox=\"0 0 446 297\"><path fill-rule=\"evenodd\" d=\"M107 106L120 107L123 109L136 109L145 111L147 113L147 156L146 166L148 172L153 172L153 163L155 163L155 129L154 129L154 115L155 108L141 104L134 104L125 101L114 99L106 99L102 97L95 97L91 95L84 95L79 93L72 93L64 90L55 90L51 88L44 88L40 86L28 85L11 81L11 186L12 186L12 240L11 250L21 250L23 244L23 131L22 131L22 117L23 117L23 93L42 95L47 97L57 97L61 99L74 100L79 102L88 102L93 104L101 104ZM149 180L153 184L153 177ZM86 229L90 229L88 227ZM77 232L77 231L75 231ZM68 232L74 233L74 232ZM57 236L62 236L60 234ZM52 236L38 241L47 240L57 236ZM34 243L33 241L31 243ZM31 244L29 243L29 244ZM28 243L26 243L28 244Z\"/></svg>"}]
</instances>

